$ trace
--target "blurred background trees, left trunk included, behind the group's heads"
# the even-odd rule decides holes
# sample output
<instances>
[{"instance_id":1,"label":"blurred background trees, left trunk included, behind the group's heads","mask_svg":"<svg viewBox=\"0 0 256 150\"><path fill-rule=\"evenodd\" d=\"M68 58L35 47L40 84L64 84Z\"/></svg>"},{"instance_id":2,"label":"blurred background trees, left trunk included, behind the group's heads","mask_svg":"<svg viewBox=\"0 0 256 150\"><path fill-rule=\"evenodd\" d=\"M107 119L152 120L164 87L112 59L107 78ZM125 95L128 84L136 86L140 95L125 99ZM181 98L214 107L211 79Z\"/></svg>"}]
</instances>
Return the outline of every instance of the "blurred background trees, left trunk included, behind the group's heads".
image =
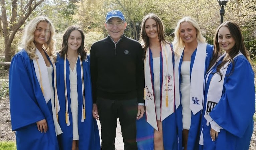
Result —
<instances>
[{"instance_id":1,"label":"blurred background trees, left trunk included, behind the group's heads","mask_svg":"<svg viewBox=\"0 0 256 150\"><path fill-rule=\"evenodd\" d=\"M124 13L127 22L125 35L135 40L139 39L142 18L148 13L156 13L162 19L169 42L172 42L172 33L182 17L193 17L209 43L213 43L213 35L220 24L217 0L1 0L1 54L15 54L24 24L39 15L47 16L53 22L57 50L60 50L63 32L73 24L84 29L85 46L90 50L93 42L107 36L105 16L113 9ZM224 21L233 21L240 26L247 49L254 58L256 0L229 0L225 6ZM5 61L10 61L6 56Z\"/></svg>"}]
</instances>

